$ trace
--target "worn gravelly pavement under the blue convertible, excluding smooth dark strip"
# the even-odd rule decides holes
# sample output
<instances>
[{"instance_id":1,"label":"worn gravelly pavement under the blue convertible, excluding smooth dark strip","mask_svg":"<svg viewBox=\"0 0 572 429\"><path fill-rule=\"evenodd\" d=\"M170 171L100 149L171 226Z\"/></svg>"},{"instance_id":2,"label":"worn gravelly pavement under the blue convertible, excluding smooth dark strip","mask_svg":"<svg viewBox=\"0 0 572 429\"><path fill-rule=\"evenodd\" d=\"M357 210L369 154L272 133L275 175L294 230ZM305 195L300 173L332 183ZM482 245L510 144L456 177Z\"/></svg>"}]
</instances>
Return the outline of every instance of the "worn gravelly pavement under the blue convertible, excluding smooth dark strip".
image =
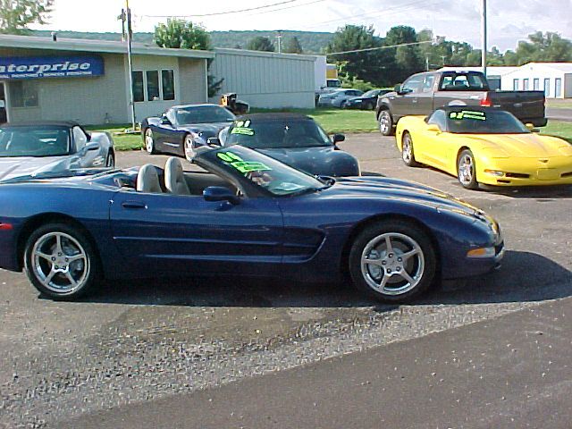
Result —
<instances>
[{"instance_id":1,"label":"worn gravelly pavement under the blue convertible, excluding smooth dark strip","mask_svg":"<svg viewBox=\"0 0 572 429\"><path fill-rule=\"evenodd\" d=\"M393 138L350 135L340 146L364 173L423 182L492 214L508 250L501 270L407 306L343 284L224 278L107 283L80 302L55 302L24 274L0 270L0 427L59 427L83 413L572 303L572 187L468 191L442 172L406 167ZM134 151L117 164L165 159Z\"/></svg>"}]
</instances>

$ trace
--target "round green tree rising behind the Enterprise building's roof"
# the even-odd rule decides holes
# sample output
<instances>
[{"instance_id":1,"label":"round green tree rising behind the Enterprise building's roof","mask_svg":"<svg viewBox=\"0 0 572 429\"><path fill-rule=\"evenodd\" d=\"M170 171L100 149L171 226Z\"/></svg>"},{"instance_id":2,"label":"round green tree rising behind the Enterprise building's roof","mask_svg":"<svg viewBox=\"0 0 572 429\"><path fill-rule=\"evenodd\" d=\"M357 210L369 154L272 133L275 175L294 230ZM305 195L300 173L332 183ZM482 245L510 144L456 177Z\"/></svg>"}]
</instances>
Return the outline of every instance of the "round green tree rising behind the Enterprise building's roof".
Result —
<instances>
[{"instance_id":1,"label":"round green tree rising behind the Enterprise building's roof","mask_svg":"<svg viewBox=\"0 0 572 429\"><path fill-rule=\"evenodd\" d=\"M180 49L211 48L211 37L206 29L190 21L168 19L155 28L154 41L157 46Z\"/></svg>"}]
</instances>

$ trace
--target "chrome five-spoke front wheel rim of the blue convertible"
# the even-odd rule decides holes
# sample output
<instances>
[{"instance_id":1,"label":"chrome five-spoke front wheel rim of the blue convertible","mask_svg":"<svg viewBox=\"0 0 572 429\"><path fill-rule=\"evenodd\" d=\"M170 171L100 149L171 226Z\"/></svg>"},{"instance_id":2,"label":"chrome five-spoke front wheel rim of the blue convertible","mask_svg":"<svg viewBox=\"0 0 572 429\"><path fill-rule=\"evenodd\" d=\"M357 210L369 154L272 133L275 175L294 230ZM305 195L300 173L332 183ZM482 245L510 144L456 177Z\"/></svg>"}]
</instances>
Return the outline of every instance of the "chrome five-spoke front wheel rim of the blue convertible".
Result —
<instances>
[{"instance_id":1,"label":"chrome five-spoke front wheel rim of the blue convertible","mask_svg":"<svg viewBox=\"0 0 572 429\"><path fill-rule=\"evenodd\" d=\"M402 295L421 282L425 256L416 240L398 232L387 232L367 243L361 255L361 273L373 290L385 295Z\"/></svg>"}]
</instances>

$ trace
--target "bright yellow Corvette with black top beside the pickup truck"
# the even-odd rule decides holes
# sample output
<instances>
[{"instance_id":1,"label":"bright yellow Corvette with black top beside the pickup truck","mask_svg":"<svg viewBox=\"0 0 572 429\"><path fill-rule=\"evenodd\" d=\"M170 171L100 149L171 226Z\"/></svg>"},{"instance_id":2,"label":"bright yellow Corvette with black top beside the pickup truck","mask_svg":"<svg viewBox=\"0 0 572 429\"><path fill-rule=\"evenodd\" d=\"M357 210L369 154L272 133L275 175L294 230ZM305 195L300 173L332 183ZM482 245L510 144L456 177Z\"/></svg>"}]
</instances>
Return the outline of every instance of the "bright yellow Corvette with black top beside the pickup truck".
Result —
<instances>
[{"instance_id":1,"label":"bright yellow Corvette with black top beside the pickup truck","mask_svg":"<svg viewBox=\"0 0 572 429\"><path fill-rule=\"evenodd\" d=\"M572 145L535 134L502 110L442 107L401 118L395 136L405 164L449 172L467 189L572 184Z\"/></svg>"}]
</instances>

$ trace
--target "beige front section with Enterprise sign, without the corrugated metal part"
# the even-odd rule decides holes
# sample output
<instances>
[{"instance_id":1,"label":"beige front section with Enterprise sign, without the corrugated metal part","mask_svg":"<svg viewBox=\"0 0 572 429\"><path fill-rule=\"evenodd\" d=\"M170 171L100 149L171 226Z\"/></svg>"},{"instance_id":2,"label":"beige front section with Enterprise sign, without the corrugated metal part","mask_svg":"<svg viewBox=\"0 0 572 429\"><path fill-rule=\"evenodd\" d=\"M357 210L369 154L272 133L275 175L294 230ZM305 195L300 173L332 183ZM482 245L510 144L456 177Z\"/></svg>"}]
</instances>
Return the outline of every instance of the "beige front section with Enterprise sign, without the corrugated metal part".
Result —
<instances>
[{"instance_id":1,"label":"beige front section with Enterprise sign, without the corrugated metal part","mask_svg":"<svg viewBox=\"0 0 572 429\"><path fill-rule=\"evenodd\" d=\"M206 102L206 60L214 53L142 44L132 52L138 121L170 105ZM0 108L9 121L130 122L127 63L122 42L1 35Z\"/></svg>"}]
</instances>

